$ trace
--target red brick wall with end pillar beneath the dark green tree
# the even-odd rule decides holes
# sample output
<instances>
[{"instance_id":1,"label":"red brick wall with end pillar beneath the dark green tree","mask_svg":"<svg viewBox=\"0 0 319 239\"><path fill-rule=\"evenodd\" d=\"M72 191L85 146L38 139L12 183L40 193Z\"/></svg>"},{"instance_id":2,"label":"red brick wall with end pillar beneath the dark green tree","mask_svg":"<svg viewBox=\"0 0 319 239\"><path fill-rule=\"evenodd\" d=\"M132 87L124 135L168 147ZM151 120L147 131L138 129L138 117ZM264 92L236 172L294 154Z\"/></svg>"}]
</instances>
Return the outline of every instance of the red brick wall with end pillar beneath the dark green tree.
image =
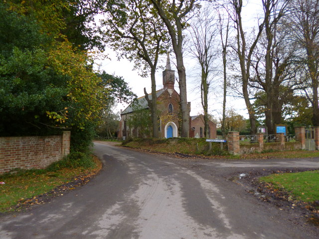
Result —
<instances>
[{"instance_id":1,"label":"red brick wall with end pillar beneath the dark green tree","mask_svg":"<svg viewBox=\"0 0 319 239\"><path fill-rule=\"evenodd\" d=\"M69 131L55 136L0 137L0 174L13 168L45 168L69 152Z\"/></svg>"}]
</instances>

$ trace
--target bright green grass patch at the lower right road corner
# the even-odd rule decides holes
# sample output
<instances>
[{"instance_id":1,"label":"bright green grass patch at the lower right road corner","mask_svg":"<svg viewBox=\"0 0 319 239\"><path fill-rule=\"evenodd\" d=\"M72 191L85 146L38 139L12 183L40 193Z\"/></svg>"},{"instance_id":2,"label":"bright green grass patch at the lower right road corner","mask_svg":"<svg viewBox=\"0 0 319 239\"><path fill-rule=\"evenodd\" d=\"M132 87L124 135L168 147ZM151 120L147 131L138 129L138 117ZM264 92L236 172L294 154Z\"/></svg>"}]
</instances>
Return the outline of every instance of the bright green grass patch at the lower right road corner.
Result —
<instances>
[{"instance_id":1,"label":"bright green grass patch at the lower right road corner","mask_svg":"<svg viewBox=\"0 0 319 239\"><path fill-rule=\"evenodd\" d=\"M319 171L280 173L261 177L260 182L293 195L294 199L313 203L319 200Z\"/></svg>"}]
</instances>

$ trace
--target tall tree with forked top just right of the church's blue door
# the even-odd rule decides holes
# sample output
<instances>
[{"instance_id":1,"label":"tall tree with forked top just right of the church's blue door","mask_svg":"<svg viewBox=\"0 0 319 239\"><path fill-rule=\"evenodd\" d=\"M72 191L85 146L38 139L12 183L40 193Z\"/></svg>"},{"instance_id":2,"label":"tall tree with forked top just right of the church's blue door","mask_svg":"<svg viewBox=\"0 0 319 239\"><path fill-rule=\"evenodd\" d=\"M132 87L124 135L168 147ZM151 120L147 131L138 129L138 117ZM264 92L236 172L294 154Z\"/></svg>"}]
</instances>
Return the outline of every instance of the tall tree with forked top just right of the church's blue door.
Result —
<instances>
[{"instance_id":1,"label":"tall tree with forked top just right of the church's blue door","mask_svg":"<svg viewBox=\"0 0 319 239\"><path fill-rule=\"evenodd\" d=\"M172 48L176 57L178 73L178 85L181 110L181 136L188 137L189 133L189 109L187 104L186 72L183 62L183 34L182 30L186 25L186 16L195 7L197 0L150 0L163 20L170 35Z\"/></svg>"}]
</instances>

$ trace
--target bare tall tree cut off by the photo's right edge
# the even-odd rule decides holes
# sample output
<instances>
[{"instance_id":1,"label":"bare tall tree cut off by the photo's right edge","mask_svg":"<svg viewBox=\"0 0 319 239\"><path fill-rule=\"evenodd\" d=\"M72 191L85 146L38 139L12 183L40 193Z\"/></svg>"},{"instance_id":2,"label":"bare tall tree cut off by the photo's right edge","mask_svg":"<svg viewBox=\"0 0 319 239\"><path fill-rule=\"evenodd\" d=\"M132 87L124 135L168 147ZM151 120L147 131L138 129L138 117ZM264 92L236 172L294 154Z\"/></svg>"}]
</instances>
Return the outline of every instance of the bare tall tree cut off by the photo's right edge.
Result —
<instances>
[{"instance_id":1,"label":"bare tall tree cut off by the photo's right edge","mask_svg":"<svg viewBox=\"0 0 319 239\"><path fill-rule=\"evenodd\" d=\"M305 66L301 70L305 70L305 93L313 109L312 122L319 126L319 2L292 0L290 7L288 26L297 49L300 49L298 62Z\"/></svg>"}]
</instances>

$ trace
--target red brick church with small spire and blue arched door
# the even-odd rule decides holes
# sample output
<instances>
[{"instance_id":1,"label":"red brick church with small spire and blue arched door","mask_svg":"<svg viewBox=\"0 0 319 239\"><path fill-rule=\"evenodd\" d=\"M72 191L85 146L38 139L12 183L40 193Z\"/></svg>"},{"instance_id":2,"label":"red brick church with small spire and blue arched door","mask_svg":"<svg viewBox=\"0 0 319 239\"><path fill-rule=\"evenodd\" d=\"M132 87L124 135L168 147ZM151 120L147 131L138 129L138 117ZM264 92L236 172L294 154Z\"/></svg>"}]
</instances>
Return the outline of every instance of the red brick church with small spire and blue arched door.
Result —
<instances>
[{"instance_id":1,"label":"red brick church with small spire and blue arched door","mask_svg":"<svg viewBox=\"0 0 319 239\"><path fill-rule=\"evenodd\" d=\"M162 72L163 88L156 92L157 110L159 112L159 136L160 138L179 137L179 94L174 89L175 72L170 68L169 56L167 56L166 68ZM149 94L152 100L152 94ZM139 109L148 109L148 102L145 96L137 99ZM190 102L188 102L190 112ZM119 138L126 137L151 137L152 135L141 135L135 128L130 128L127 121L134 113L133 103L124 111L121 110ZM208 122L207 138L216 138L216 124ZM204 137L204 117L203 115L192 116L189 118L189 137Z\"/></svg>"}]
</instances>

